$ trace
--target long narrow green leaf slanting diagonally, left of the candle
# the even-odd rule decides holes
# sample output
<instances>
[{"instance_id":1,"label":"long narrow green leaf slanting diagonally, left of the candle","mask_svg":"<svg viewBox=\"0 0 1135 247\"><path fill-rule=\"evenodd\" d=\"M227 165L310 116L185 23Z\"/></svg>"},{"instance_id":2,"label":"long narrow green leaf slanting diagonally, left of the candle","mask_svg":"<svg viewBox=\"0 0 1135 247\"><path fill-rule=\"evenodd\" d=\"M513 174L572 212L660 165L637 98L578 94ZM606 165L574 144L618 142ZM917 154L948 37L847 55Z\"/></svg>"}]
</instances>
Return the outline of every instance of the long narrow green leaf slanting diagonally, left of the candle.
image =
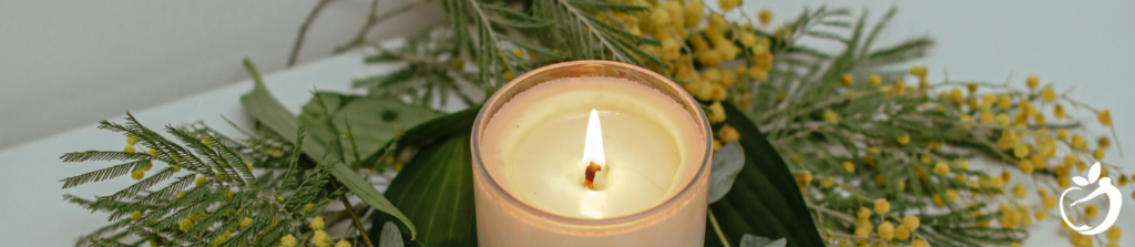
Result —
<instances>
[{"instance_id":1,"label":"long narrow green leaf slanting diagonally, left of the candle","mask_svg":"<svg viewBox=\"0 0 1135 247\"><path fill-rule=\"evenodd\" d=\"M297 133L300 130L300 119L292 116L292 113L289 113L284 105L280 105L279 101L276 101L276 97L272 96L271 92L268 92L268 87L264 86L264 82L260 78L260 73L257 71L252 61L245 59L244 66L249 69L249 73L252 74L254 83L252 92L241 96L241 104L244 105L244 110L247 111L253 119L268 127L271 131L277 134ZM285 140L296 143L296 137L291 135L279 136ZM327 152L326 145L326 142L303 142L303 146L300 148L309 156L322 156L322 154ZM398 219L398 221L404 223L406 228L410 229L411 238L417 237L418 231L414 229L413 223L411 223L397 207L394 207L390 202L386 199L386 197L382 197L382 194L375 189L370 182L362 180L362 177L360 177L359 173L355 173L343 163L338 163L331 168L331 173L339 180L339 182L343 182L347 189L362 198L364 203L375 210L393 215ZM359 181L365 182L365 186L361 185Z\"/></svg>"}]
</instances>

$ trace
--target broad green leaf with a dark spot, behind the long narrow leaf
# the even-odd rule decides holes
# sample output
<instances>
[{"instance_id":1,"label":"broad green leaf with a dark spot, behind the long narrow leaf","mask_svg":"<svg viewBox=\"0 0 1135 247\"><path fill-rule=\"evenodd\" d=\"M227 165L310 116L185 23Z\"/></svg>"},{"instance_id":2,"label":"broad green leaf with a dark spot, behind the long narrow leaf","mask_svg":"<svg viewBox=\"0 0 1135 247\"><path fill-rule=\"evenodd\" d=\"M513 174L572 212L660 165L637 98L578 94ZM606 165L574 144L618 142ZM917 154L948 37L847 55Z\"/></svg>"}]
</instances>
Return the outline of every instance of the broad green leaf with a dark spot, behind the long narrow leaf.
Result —
<instances>
[{"instance_id":1,"label":"broad green leaf with a dark spot, behind the long narrow leaf","mask_svg":"<svg viewBox=\"0 0 1135 247\"><path fill-rule=\"evenodd\" d=\"M314 142L326 145L338 139L345 152L344 156L348 159L345 163L354 163L355 151L360 157L371 156L400 133L438 116L434 110L410 105L389 96L355 96L328 92L317 94L303 107L300 122L308 126ZM329 112L323 111L317 103L318 100L323 101ZM335 129L327 125L328 118L331 118ZM340 138L335 138L336 134Z\"/></svg>"}]
</instances>

